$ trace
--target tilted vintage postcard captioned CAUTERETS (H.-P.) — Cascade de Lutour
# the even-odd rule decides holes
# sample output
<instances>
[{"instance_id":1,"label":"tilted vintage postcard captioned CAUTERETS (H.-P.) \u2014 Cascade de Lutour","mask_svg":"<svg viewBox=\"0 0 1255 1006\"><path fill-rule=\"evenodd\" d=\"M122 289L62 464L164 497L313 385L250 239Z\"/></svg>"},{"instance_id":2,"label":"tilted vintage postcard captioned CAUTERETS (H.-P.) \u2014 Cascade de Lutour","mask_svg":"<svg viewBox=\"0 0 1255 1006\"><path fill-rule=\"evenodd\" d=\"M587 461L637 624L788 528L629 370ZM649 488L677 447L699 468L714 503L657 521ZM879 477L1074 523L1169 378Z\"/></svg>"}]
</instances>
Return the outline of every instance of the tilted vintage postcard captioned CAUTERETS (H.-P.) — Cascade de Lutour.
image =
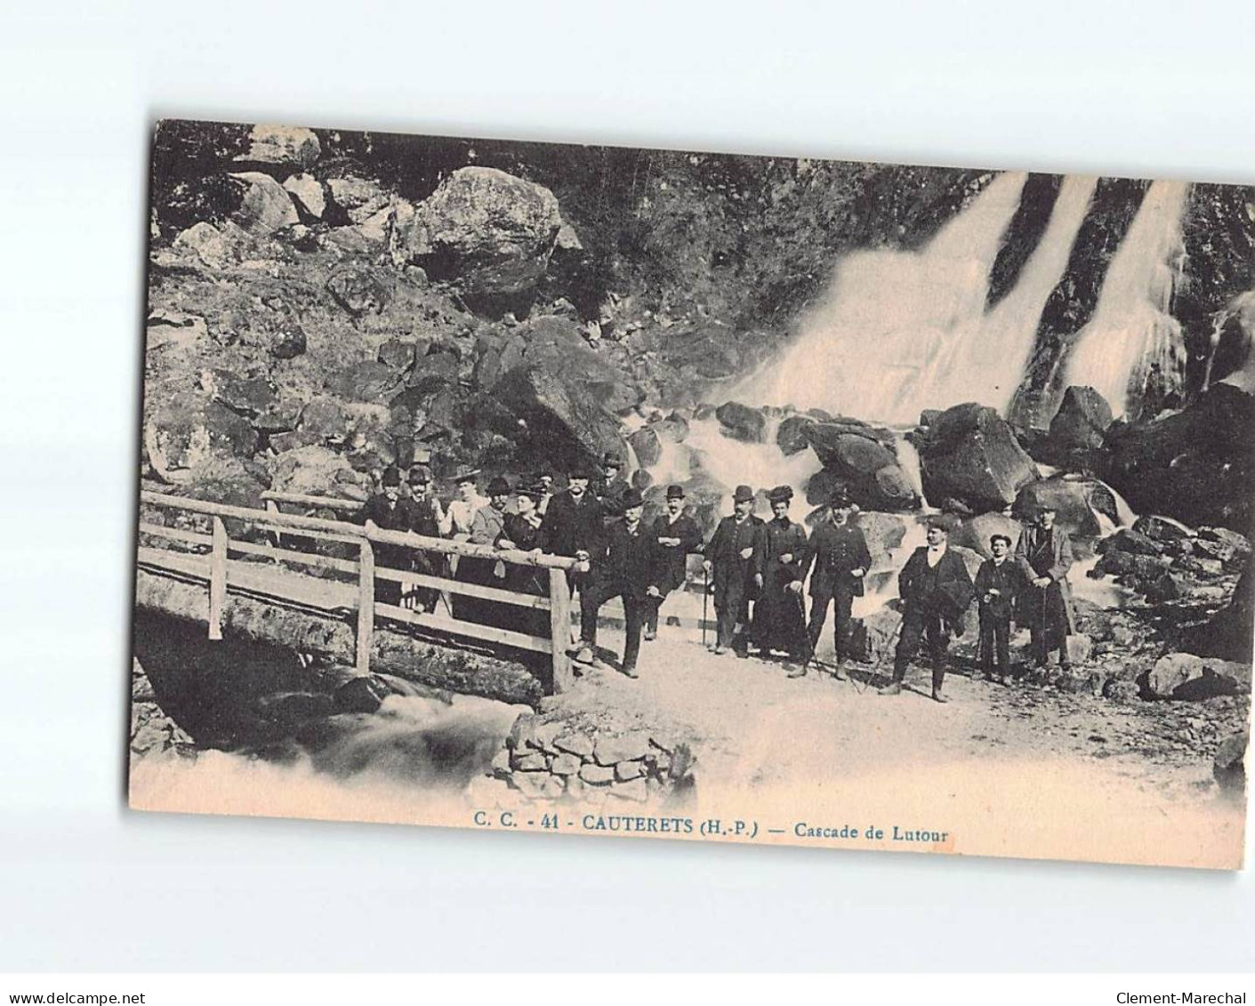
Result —
<instances>
[{"instance_id":1,"label":"tilted vintage postcard captioned CAUTERETS (H.-P.) \u2014 Cascade de Lutour","mask_svg":"<svg viewBox=\"0 0 1255 1006\"><path fill-rule=\"evenodd\" d=\"M149 227L133 808L1241 867L1255 187L164 120Z\"/></svg>"}]
</instances>

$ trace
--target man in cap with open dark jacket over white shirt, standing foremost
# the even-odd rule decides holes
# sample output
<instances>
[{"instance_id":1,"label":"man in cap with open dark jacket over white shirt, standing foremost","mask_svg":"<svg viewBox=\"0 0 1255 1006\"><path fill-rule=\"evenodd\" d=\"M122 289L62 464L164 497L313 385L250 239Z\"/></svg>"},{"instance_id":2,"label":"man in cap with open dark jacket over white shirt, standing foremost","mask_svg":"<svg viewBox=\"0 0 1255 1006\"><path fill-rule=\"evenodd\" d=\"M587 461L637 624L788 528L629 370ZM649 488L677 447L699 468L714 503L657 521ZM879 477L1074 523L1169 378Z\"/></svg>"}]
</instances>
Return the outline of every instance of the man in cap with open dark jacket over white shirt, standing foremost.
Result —
<instances>
[{"instance_id":1,"label":"man in cap with open dark jacket over white shirt, standing foremost","mask_svg":"<svg viewBox=\"0 0 1255 1006\"><path fill-rule=\"evenodd\" d=\"M948 547L950 526L944 517L929 521L927 544L920 546L897 576L897 593L902 601L902 630L894 654L894 681L880 690L881 695L897 695L906 679L906 669L920 649L920 640L929 646L932 659L932 699L949 701L941 691L945 681L945 654L950 632L961 631L963 613L971 603L971 577L963 558Z\"/></svg>"}]
</instances>

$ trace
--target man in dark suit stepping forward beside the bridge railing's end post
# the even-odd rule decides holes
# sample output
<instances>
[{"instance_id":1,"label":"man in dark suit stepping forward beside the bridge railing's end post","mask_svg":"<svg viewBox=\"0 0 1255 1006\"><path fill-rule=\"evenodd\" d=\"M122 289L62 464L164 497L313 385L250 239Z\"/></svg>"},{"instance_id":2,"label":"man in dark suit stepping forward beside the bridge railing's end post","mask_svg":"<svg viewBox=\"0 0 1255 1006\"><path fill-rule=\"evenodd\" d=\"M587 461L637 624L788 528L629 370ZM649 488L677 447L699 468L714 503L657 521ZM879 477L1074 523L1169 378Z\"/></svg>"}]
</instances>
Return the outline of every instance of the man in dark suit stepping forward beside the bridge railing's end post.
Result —
<instances>
[{"instance_id":1,"label":"man in dark suit stepping forward beside the bridge railing's end post","mask_svg":"<svg viewBox=\"0 0 1255 1006\"><path fill-rule=\"evenodd\" d=\"M640 654L640 632L646 611L661 600L658 577L663 572L659 546L641 523L644 500L635 489L620 497L622 521L616 521L606 533L605 546L590 558L589 583L580 592L580 641L575 660L591 664L597 646L597 611L612 597L621 597L626 621L622 672L636 677Z\"/></svg>"}]
</instances>

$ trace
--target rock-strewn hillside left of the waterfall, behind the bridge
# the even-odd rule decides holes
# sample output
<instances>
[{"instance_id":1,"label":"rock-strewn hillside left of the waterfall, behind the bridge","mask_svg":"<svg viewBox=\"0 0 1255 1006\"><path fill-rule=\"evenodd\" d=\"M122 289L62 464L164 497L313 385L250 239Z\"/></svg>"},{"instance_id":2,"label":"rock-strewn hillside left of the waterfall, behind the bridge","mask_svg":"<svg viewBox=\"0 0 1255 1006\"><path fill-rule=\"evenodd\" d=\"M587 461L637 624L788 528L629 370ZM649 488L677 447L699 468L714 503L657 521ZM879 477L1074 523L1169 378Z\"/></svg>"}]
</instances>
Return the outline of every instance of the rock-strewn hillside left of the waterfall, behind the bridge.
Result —
<instances>
[{"instance_id":1,"label":"rock-strewn hillside left of the waterfall, behind the bridge","mask_svg":"<svg viewBox=\"0 0 1255 1006\"><path fill-rule=\"evenodd\" d=\"M625 450L988 174L163 122L144 474L255 502Z\"/></svg>"}]
</instances>

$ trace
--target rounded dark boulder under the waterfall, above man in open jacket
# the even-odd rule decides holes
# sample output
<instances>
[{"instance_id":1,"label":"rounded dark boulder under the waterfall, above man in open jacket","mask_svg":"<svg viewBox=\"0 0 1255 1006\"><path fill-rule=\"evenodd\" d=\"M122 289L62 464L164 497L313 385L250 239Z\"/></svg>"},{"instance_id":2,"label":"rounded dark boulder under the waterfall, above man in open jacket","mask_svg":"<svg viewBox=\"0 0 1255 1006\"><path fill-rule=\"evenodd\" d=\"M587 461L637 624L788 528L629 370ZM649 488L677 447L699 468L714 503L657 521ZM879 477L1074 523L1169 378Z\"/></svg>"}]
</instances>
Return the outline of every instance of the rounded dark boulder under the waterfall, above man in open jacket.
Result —
<instances>
[{"instance_id":1,"label":"rounded dark boulder under the waterfall, above man in open jacket","mask_svg":"<svg viewBox=\"0 0 1255 1006\"><path fill-rule=\"evenodd\" d=\"M956 499L976 513L1000 511L1040 478L1007 421L976 403L946 409L919 428L912 442L930 500Z\"/></svg>"}]
</instances>

